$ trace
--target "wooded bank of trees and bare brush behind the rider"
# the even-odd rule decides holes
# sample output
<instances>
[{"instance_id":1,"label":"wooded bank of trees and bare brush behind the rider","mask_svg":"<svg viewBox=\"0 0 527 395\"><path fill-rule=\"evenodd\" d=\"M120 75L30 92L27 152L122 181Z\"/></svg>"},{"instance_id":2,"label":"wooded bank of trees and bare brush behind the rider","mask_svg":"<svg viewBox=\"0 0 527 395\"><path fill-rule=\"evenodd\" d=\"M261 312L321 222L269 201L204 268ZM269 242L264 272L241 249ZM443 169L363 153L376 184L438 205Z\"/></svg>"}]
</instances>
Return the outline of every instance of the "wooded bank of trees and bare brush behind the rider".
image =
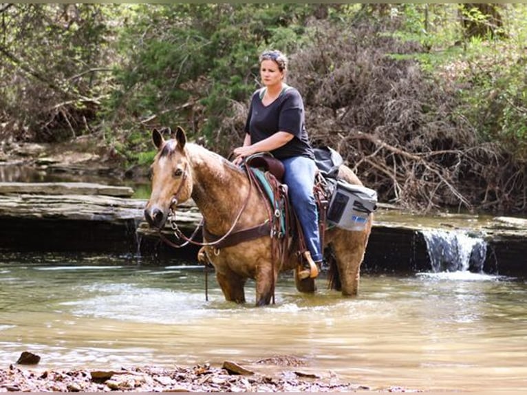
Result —
<instances>
[{"instance_id":1,"label":"wooded bank of trees and bare brush behind the rider","mask_svg":"<svg viewBox=\"0 0 527 395\"><path fill-rule=\"evenodd\" d=\"M227 157L279 49L313 145L380 201L527 212L524 4L0 3L0 29L3 150L78 145L134 177L181 125Z\"/></svg>"}]
</instances>

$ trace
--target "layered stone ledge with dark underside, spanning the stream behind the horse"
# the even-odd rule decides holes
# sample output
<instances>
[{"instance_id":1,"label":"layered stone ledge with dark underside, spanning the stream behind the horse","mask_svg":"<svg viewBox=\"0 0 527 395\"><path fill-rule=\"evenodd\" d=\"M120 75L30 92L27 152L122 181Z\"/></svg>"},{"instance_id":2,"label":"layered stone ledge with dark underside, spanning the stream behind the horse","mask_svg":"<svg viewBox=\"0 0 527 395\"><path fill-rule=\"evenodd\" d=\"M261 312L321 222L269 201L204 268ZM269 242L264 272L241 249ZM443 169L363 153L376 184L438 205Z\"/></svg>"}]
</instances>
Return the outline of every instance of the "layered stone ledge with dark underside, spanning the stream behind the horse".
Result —
<instances>
[{"instance_id":1,"label":"layered stone ledge with dark underside, spanning the stream behind the horse","mask_svg":"<svg viewBox=\"0 0 527 395\"><path fill-rule=\"evenodd\" d=\"M103 194L114 188L120 194L121 187L50 183L50 186L39 189L44 185L0 184L4 187L4 192L0 193L0 248L98 250L168 258L186 255L195 259L195 246L181 250L168 246L162 242L158 231L144 222L146 200ZM193 202L178 208L178 226L187 236L201 219ZM525 277L526 224L527 220L516 217L449 213L423 217L381 204L374 220L363 270L374 273L431 270L424 233L437 230L471 233L484 239L488 244L483 267L485 273ZM162 232L174 240L168 225Z\"/></svg>"}]
</instances>

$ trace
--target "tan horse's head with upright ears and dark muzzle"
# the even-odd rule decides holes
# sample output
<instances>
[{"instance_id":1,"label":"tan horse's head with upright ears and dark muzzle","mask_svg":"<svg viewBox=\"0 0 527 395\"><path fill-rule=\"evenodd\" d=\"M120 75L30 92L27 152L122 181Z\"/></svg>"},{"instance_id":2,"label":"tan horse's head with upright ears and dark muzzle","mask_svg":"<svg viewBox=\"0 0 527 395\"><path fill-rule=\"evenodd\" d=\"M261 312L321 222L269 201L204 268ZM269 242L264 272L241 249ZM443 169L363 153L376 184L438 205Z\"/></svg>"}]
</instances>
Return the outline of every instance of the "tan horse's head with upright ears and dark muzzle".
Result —
<instances>
[{"instance_id":1,"label":"tan horse's head with upright ears and dark muzzle","mask_svg":"<svg viewBox=\"0 0 527 395\"><path fill-rule=\"evenodd\" d=\"M152 192L144 209L144 218L150 226L162 228L172 206L189 200L192 193L192 175L186 157L186 135L181 127L169 140L157 129L152 141L158 148L151 165Z\"/></svg>"}]
</instances>

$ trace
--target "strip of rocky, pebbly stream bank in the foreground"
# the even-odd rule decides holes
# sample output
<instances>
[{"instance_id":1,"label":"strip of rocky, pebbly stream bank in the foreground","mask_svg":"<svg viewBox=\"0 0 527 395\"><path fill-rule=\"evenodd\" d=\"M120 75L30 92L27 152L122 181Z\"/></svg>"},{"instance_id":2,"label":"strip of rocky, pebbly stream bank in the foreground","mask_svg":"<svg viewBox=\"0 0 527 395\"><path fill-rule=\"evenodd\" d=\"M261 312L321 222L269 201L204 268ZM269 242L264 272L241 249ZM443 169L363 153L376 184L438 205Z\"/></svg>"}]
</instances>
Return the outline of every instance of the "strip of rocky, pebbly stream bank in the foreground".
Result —
<instances>
[{"instance_id":1,"label":"strip of rocky, pebbly stream bank in the foreground","mask_svg":"<svg viewBox=\"0 0 527 395\"><path fill-rule=\"evenodd\" d=\"M290 364L292 359L281 358ZM262 365L266 361L260 362ZM276 363L276 361L273 361ZM280 374L255 373L226 361L222 367L133 367L122 370L0 369L0 392L372 392L367 385L342 383L285 366ZM375 392L420 392L387 387Z\"/></svg>"}]
</instances>

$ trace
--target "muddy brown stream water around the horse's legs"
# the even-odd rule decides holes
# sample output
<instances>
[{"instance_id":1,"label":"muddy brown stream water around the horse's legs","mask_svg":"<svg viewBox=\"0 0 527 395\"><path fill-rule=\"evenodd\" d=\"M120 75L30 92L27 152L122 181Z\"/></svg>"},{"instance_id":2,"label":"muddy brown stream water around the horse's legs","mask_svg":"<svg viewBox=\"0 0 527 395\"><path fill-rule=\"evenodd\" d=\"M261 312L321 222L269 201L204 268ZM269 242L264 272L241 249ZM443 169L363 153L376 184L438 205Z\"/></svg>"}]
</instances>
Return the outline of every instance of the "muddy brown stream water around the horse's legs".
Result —
<instances>
[{"instance_id":1,"label":"muddy brown stream water around the horse's legs","mask_svg":"<svg viewBox=\"0 0 527 395\"><path fill-rule=\"evenodd\" d=\"M181 266L181 265L184 266ZM0 367L24 350L42 368L255 363L383 389L527 389L527 284L467 272L364 275L342 299L281 277L275 306L224 301L193 263L133 257L9 255L0 258ZM264 369L264 370L262 370ZM277 371L283 367L275 367Z\"/></svg>"}]
</instances>

